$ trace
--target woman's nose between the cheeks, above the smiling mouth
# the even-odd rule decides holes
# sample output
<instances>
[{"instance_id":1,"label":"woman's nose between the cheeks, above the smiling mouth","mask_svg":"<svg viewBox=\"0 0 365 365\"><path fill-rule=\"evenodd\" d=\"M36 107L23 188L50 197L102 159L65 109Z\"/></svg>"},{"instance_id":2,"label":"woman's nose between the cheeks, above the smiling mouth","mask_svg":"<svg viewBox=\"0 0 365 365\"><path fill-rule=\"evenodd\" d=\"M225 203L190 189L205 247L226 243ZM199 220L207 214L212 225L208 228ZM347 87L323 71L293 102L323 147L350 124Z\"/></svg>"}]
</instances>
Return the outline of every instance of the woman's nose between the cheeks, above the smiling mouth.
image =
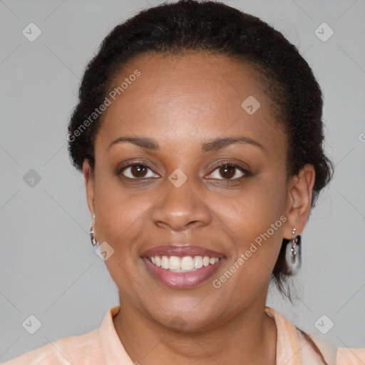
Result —
<instances>
[{"instance_id":1,"label":"woman's nose between the cheeks, above the smiling mouth","mask_svg":"<svg viewBox=\"0 0 365 365\"><path fill-rule=\"evenodd\" d=\"M192 186L192 179L176 187L166 181L165 193L153 207L152 218L155 225L173 232L185 232L192 228L209 225L212 214L205 202L202 189Z\"/></svg>"}]
</instances>

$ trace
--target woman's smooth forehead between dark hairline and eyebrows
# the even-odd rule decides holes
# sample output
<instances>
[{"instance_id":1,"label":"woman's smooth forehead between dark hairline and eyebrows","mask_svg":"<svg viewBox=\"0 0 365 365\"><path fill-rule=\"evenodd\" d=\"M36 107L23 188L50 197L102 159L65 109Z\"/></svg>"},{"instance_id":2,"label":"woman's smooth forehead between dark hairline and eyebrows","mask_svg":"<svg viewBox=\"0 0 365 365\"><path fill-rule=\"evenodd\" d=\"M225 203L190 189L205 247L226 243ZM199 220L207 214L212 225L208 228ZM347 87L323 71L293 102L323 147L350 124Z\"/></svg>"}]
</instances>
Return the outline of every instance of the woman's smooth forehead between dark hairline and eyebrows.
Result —
<instances>
[{"instance_id":1,"label":"woman's smooth forehead between dark hairline and eyebrows","mask_svg":"<svg viewBox=\"0 0 365 365\"><path fill-rule=\"evenodd\" d=\"M125 134L162 145L244 134L277 148L284 134L258 80L251 66L227 56L140 56L113 79L97 143Z\"/></svg>"}]
</instances>

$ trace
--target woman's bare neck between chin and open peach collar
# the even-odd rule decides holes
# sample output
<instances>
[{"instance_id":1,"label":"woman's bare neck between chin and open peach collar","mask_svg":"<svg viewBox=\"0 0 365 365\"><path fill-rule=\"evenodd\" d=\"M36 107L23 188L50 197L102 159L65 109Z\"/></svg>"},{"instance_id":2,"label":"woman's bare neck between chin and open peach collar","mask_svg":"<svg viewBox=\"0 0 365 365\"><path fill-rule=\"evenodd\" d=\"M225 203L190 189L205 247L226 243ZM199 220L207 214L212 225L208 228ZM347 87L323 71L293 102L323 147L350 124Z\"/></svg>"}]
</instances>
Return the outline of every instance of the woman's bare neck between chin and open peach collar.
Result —
<instances>
[{"instance_id":1,"label":"woman's bare neck between chin and open peach collar","mask_svg":"<svg viewBox=\"0 0 365 365\"><path fill-rule=\"evenodd\" d=\"M264 313L264 301L213 329L189 332L161 326L121 295L120 304L113 322L135 364L276 364L277 329Z\"/></svg>"}]
</instances>

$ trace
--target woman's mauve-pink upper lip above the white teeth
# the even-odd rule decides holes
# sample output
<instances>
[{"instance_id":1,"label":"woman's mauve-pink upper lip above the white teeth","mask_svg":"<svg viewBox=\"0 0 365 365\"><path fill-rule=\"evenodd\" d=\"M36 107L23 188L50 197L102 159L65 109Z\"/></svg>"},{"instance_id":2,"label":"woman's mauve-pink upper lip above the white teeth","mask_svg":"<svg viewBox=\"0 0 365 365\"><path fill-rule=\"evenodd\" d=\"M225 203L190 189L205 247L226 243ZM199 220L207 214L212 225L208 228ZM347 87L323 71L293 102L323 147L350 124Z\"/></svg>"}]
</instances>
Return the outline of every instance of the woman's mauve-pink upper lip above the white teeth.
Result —
<instances>
[{"instance_id":1,"label":"woman's mauve-pink upper lip above the white teeth","mask_svg":"<svg viewBox=\"0 0 365 365\"><path fill-rule=\"evenodd\" d=\"M209 256L209 257L225 257L222 252L207 249L197 245L180 245L180 244L169 244L151 247L142 253L142 257L153 257L153 256Z\"/></svg>"}]
</instances>

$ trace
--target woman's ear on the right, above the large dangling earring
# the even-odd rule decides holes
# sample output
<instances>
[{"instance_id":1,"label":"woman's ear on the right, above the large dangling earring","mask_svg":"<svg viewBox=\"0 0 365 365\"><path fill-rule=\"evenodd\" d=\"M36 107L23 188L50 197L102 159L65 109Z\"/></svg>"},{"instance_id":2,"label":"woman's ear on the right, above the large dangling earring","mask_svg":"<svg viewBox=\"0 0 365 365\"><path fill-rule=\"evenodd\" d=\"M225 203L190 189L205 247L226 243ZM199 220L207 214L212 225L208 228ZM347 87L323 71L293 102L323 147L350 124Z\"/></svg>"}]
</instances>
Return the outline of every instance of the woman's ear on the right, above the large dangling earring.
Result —
<instances>
[{"instance_id":1,"label":"woman's ear on the right, above the large dangling earring","mask_svg":"<svg viewBox=\"0 0 365 365\"><path fill-rule=\"evenodd\" d=\"M313 165L304 165L298 175L289 180L287 199L287 222L285 222L283 235L290 240L292 230L296 228L297 235L304 230L312 204L315 170Z\"/></svg>"}]
</instances>

